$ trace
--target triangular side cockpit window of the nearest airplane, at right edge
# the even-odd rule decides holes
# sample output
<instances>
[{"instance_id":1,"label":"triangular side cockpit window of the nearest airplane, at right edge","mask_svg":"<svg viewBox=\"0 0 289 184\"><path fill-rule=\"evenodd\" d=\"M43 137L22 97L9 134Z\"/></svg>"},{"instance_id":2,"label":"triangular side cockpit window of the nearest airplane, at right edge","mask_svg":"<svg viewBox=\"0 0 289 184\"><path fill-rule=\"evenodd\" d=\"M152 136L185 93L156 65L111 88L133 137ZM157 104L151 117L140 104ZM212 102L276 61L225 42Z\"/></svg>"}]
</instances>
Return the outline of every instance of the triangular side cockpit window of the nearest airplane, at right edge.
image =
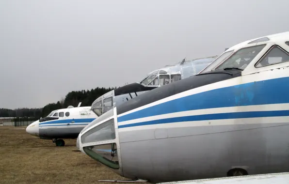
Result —
<instances>
[{"instance_id":1,"label":"triangular side cockpit window of the nearest airplane, at right edge","mask_svg":"<svg viewBox=\"0 0 289 184\"><path fill-rule=\"evenodd\" d=\"M256 67L268 66L286 61L289 61L289 54L279 46L273 46L261 61L257 63Z\"/></svg>"}]
</instances>

